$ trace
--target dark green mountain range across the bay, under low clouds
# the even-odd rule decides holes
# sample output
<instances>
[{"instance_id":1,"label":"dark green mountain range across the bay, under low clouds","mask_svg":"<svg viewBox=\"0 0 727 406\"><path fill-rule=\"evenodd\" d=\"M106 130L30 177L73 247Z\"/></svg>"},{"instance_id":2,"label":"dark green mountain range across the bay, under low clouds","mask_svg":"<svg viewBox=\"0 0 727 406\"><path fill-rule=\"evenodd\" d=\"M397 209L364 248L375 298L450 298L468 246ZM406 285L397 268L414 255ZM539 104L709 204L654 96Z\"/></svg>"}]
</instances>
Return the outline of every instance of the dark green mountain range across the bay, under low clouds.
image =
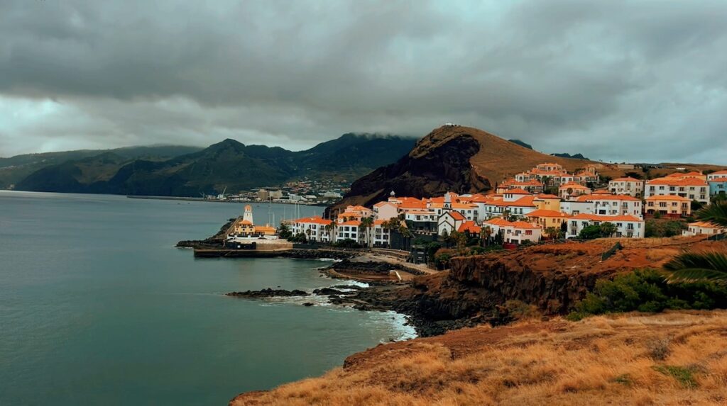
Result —
<instances>
[{"instance_id":1,"label":"dark green mountain range across the bay, under low clouds","mask_svg":"<svg viewBox=\"0 0 727 406\"><path fill-rule=\"evenodd\" d=\"M23 191L198 196L305 177L353 180L394 162L415 142L401 136L347 133L299 152L226 139L205 149L166 146L32 154L0 159L0 178L6 183L18 179L15 189Z\"/></svg>"}]
</instances>

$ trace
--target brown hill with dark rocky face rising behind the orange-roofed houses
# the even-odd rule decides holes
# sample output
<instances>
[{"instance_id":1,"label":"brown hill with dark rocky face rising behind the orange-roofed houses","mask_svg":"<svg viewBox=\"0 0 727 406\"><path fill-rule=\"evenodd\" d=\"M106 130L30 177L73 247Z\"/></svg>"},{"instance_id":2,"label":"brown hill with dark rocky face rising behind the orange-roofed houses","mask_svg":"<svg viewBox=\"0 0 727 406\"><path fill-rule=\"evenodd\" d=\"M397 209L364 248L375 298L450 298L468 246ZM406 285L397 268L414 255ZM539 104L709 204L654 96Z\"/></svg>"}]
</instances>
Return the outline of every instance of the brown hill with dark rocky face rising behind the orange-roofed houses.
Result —
<instances>
[{"instance_id":1,"label":"brown hill with dark rocky face rising behind the orange-roofed houses","mask_svg":"<svg viewBox=\"0 0 727 406\"><path fill-rule=\"evenodd\" d=\"M348 204L370 205L385 199L391 191L398 196L414 197L446 191L489 191L503 178L544 162L559 163L569 171L588 164L603 167L585 159L542 154L477 128L445 125L419 140L397 162L379 167L354 182L333 210Z\"/></svg>"}]
</instances>

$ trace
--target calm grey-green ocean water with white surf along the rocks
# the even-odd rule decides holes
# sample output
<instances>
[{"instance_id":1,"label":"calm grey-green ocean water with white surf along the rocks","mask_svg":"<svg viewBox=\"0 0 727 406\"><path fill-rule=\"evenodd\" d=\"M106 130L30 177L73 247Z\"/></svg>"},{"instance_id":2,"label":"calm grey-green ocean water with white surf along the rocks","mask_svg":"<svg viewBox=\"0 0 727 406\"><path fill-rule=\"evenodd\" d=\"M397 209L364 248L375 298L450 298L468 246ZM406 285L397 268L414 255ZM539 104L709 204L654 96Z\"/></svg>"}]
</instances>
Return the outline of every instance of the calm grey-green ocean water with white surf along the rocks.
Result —
<instances>
[{"instance_id":1,"label":"calm grey-green ocean water with white surf along the rocks","mask_svg":"<svg viewBox=\"0 0 727 406\"><path fill-rule=\"evenodd\" d=\"M253 209L265 223L268 206ZM318 260L196 260L174 248L242 210L0 191L0 405L225 405L413 334L391 312L225 297L340 283Z\"/></svg>"}]
</instances>

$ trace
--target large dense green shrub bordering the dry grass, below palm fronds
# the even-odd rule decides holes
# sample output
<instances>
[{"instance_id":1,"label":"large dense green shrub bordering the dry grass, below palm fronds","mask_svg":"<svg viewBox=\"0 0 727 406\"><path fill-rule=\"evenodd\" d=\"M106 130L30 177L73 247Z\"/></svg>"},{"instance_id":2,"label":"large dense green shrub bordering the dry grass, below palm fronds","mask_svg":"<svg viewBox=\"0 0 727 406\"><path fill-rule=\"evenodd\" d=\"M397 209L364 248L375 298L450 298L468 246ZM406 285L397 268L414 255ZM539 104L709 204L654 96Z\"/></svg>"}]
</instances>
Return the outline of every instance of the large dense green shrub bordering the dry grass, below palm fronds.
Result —
<instances>
[{"instance_id":1,"label":"large dense green shrub bordering the dry grass, below palm fronds","mask_svg":"<svg viewBox=\"0 0 727 406\"><path fill-rule=\"evenodd\" d=\"M576 304L569 320L616 312L662 312L667 309L727 307L727 286L710 282L667 283L659 270L635 270L601 279L585 299Z\"/></svg>"}]
</instances>

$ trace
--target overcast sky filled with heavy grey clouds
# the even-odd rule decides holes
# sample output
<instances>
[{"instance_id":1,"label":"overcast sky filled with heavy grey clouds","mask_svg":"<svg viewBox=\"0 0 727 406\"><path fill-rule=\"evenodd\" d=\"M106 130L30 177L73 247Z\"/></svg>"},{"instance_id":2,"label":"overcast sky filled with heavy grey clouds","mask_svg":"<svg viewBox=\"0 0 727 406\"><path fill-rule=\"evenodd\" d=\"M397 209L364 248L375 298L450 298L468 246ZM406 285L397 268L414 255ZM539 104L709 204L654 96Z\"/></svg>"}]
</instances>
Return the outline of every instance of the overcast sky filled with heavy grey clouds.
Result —
<instances>
[{"instance_id":1,"label":"overcast sky filled with heavy grey clouds","mask_svg":"<svg viewBox=\"0 0 727 406\"><path fill-rule=\"evenodd\" d=\"M727 1L0 0L0 156L451 121L727 165Z\"/></svg>"}]
</instances>

